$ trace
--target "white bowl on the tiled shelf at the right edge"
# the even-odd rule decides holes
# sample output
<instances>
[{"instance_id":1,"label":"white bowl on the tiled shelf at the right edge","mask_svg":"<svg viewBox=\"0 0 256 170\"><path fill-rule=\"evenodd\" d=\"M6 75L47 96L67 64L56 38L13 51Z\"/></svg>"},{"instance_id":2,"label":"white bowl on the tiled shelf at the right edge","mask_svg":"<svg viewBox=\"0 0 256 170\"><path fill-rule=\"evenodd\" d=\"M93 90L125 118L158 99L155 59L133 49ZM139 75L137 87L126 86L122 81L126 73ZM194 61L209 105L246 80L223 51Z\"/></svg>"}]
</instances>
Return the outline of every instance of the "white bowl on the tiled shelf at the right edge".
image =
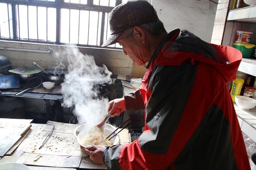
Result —
<instances>
[{"instance_id":1,"label":"white bowl on the tiled shelf at the right edge","mask_svg":"<svg viewBox=\"0 0 256 170\"><path fill-rule=\"evenodd\" d=\"M255 108L256 100L246 96L235 96L237 106L243 110Z\"/></svg>"}]
</instances>

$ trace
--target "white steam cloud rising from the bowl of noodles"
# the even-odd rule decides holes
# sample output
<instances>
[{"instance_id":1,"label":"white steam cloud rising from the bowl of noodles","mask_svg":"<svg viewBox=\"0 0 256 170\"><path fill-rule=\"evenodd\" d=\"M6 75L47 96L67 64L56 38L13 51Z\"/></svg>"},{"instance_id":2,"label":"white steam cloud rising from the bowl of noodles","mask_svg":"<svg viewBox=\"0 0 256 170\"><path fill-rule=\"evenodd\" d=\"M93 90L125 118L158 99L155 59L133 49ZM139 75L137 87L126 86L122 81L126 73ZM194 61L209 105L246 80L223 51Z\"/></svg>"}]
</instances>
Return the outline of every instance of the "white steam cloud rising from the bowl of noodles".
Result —
<instances>
[{"instance_id":1,"label":"white steam cloud rising from the bowl of noodles","mask_svg":"<svg viewBox=\"0 0 256 170\"><path fill-rule=\"evenodd\" d=\"M99 97L99 85L111 84L111 72L103 65L95 64L94 57L83 55L78 48L65 48L56 52L59 65L63 69L64 59L67 59L68 73L65 82L61 84L63 106L74 106L74 114L78 123L95 123L104 119L108 113L108 99Z\"/></svg>"}]
</instances>

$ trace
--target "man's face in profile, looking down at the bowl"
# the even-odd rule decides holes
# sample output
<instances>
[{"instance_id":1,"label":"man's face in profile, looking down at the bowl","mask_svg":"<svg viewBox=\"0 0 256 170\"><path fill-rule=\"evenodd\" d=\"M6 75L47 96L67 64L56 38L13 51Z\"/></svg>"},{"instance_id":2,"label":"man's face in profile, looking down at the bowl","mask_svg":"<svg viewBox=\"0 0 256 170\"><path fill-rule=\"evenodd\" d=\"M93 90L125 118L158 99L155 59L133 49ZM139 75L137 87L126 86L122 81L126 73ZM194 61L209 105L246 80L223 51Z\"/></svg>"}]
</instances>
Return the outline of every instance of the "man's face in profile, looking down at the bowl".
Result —
<instances>
[{"instance_id":1,"label":"man's face in profile, looking down at the bowl","mask_svg":"<svg viewBox=\"0 0 256 170\"><path fill-rule=\"evenodd\" d=\"M124 55L129 55L129 57L138 65L141 66L147 62L147 49L141 43L141 40L134 36L127 37L126 33L117 38L117 42L122 46ZM147 57L146 57L147 56Z\"/></svg>"}]
</instances>

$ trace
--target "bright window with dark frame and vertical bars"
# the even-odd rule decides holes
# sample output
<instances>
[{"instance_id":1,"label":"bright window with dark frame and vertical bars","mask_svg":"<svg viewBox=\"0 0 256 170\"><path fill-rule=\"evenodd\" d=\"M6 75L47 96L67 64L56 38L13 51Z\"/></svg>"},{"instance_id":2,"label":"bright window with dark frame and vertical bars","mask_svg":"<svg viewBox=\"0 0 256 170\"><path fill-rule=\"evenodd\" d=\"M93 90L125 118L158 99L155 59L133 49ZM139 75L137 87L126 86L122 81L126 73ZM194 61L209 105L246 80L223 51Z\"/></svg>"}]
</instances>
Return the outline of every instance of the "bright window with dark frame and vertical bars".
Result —
<instances>
[{"instance_id":1,"label":"bright window with dark frame and vertical bars","mask_svg":"<svg viewBox=\"0 0 256 170\"><path fill-rule=\"evenodd\" d=\"M110 11L127 1L0 0L0 40L99 47L110 36Z\"/></svg>"}]
</instances>

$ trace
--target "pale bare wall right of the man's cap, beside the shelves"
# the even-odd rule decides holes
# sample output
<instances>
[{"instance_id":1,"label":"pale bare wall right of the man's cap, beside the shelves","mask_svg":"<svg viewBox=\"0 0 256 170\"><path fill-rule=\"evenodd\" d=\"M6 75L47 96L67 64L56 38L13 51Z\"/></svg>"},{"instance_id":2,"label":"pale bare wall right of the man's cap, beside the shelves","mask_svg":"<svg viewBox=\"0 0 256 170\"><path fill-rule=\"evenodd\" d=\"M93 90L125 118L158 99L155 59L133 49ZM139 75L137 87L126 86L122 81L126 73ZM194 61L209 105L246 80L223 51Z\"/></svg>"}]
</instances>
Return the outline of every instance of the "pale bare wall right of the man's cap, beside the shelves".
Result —
<instances>
[{"instance_id":1,"label":"pale bare wall right of the man's cap, beside the shelves","mask_svg":"<svg viewBox=\"0 0 256 170\"><path fill-rule=\"evenodd\" d=\"M179 27L211 41L217 4L208 0L151 0L151 4L167 32Z\"/></svg>"}]
</instances>

